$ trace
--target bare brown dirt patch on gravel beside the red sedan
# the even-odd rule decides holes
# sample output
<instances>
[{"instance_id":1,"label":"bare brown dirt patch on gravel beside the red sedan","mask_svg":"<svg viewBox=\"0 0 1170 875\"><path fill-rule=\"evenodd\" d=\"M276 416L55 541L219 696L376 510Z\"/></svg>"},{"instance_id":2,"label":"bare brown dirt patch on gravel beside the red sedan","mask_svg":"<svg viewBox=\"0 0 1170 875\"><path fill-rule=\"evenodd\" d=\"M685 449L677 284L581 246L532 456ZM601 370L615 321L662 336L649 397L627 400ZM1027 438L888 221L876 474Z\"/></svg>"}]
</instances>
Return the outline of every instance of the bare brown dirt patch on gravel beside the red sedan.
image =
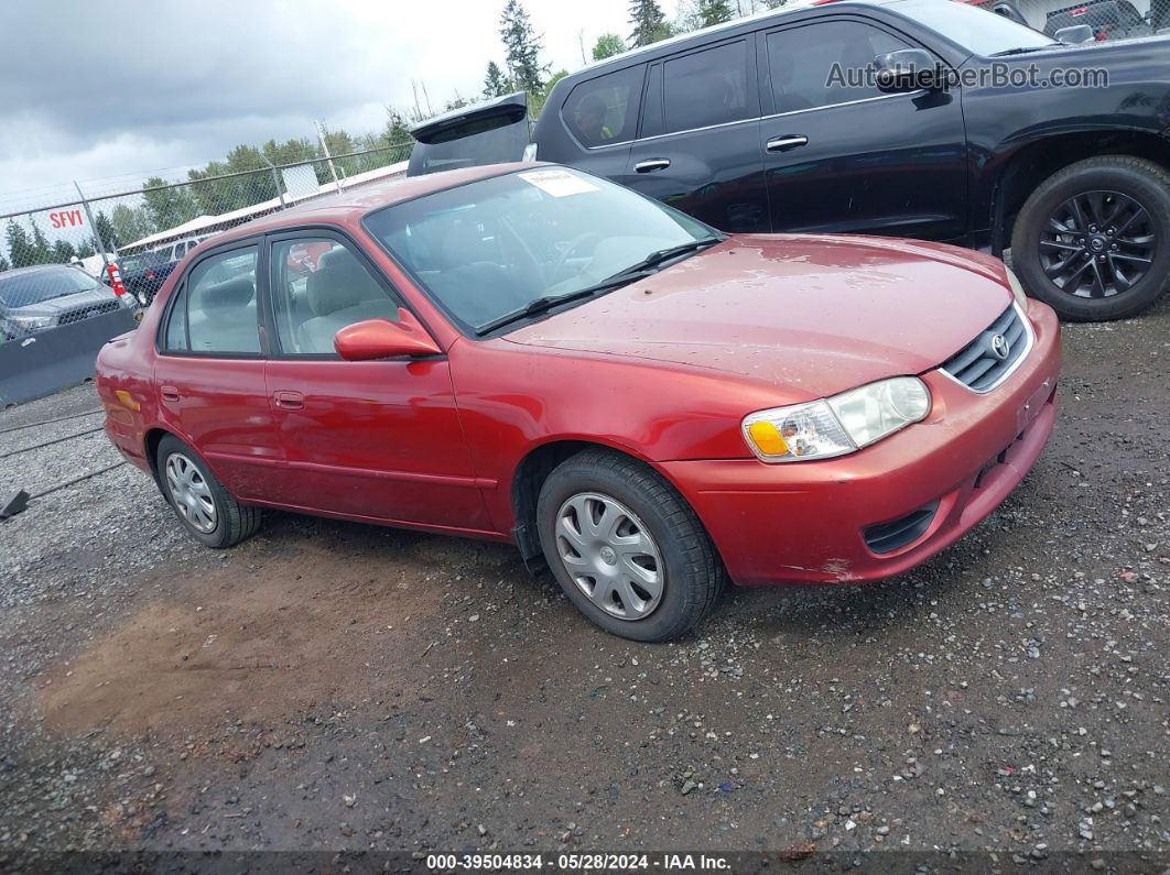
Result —
<instances>
[{"instance_id":1,"label":"bare brown dirt patch on gravel beside the red sedan","mask_svg":"<svg viewBox=\"0 0 1170 875\"><path fill-rule=\"evenodd\" d=\"M181 582L50 673L41 692L49 728L191 732L400 687L399 672L371 667L408 647L412 620L438 609L429 554L467 549L418 539L310 542Z\"/></svg>"}]
</instances>

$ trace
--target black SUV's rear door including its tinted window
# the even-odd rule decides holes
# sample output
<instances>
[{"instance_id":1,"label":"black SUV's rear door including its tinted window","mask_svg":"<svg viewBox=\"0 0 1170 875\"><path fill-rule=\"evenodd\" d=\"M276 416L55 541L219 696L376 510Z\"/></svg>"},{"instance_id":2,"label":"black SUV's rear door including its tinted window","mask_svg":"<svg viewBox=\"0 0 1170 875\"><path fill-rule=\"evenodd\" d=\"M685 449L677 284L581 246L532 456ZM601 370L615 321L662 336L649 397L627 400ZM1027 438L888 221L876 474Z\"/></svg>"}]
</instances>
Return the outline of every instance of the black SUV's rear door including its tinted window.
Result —
<instances>
[{"instance_id":1,"label":"black SUV's rear door including its tinted window","mask_svg":"<svg viewBox=\"0 0 1170 875\"><path fill-rule=\"evenodd\" d=\"M722 230L769 230L751 36L651 65L620 181Z\"/></svg>"}]
</instances>

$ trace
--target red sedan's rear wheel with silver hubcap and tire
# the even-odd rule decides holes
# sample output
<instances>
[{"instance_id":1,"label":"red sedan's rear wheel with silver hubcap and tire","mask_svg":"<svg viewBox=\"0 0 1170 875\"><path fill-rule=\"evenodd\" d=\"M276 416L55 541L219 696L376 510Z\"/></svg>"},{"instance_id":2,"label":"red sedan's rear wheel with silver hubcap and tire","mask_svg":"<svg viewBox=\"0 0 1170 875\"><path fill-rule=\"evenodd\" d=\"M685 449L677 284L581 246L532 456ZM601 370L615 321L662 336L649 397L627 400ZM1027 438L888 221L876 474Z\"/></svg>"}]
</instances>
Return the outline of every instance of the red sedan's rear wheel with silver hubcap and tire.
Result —
<instances>
[{"instance_id":1,"label":"red sedan's rear wheel with silver hubcap and tire","mask_svg":"<svg viewBox=\"0 0 1170 875\"><path fill-rule=\"evenodd\" d=\"M202 457L185 443L167 435L158 444L156 460L158 487L179 522L195 540L221 549L256 534L260 508L236 501L215 479Z\"/></svg>"}]
</instances>

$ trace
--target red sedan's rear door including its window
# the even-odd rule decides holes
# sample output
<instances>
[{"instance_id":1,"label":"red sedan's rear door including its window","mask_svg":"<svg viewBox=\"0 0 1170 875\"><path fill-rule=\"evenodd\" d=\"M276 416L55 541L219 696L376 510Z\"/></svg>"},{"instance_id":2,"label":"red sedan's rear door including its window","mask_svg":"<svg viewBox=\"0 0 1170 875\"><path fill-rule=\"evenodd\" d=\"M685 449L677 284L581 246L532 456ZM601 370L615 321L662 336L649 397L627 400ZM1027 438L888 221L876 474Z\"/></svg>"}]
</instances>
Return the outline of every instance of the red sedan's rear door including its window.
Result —
<instances>
[{"instance_id":1,"label":"red sedan's rear door including its window","mask_svg":"<svg viewBox=\"0 0 1170 875\"><path fill-rule=\"evenodd\" d=\"M154 384L160 418L236 498L277 501L283 446L264 383L259 241L195 262L167 301Z\"/></svg>"}]
</instances>

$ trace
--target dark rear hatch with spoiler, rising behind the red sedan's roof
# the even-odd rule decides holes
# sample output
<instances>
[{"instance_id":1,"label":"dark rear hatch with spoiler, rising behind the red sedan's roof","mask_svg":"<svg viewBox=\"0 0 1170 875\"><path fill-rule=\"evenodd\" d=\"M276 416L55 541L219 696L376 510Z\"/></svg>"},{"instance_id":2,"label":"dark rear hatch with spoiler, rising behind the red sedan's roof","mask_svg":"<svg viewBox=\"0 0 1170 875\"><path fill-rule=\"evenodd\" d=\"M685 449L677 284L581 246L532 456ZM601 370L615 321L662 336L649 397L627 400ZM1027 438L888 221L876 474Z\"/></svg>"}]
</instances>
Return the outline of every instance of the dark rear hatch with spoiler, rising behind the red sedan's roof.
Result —
<instances>
[{"instance_id":1,"label":"dark rear hatch with spoiler, rising behind the red sedan's roof","mask_svg":"<svg viewBox=\"0 0 1170 875\"><path fill-rule=\"evenodd\" d=\"M412 129L407 176L519 161L530 143L528 96L521 91L464 106Z\"/></svg>"}]
</instances>

